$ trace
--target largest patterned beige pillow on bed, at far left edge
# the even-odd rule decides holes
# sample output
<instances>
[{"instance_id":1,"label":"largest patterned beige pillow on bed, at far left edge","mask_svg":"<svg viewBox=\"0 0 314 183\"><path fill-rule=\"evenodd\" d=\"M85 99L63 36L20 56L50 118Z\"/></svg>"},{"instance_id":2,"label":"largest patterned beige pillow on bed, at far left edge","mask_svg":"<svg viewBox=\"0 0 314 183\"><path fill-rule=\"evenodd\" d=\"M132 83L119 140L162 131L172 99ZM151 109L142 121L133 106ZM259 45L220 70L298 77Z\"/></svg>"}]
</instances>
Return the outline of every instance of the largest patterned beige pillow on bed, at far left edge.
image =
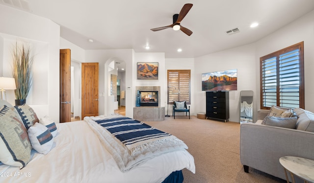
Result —
<instances>
[{"instance_id":1,"label":"largest patterned beige pillow on bed, at far left edge","mask_svg":"<svg viewBox=\"0 0 314 183\"><path fill-rule=\"evenodd\" d=\"M21 117L13 110L0 109L0 161L23 168L30 160L31 144Z\"/></svg>"}]
</instances>

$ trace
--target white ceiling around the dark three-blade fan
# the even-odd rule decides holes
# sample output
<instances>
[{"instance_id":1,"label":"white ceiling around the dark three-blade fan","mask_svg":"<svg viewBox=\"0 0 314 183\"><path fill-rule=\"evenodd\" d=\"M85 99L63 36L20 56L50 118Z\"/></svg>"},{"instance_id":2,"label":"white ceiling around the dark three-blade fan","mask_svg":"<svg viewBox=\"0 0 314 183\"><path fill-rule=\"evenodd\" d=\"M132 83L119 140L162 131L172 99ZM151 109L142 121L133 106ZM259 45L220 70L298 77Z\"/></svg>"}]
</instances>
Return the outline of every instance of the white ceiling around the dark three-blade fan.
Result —
<instances>
[{"instance_id":1,"label":"white ceiling around the dark three-blade fan","mask_svg":"<svg viewBox=\"0 0 314 183\"><path fill-rule=\"evenodd\" d=\"M33 14L59 24L61 37L83 49L164 52L166 58L195 58L254 43L314 9L314 0L27 1ZM171 28L150 30L172 24L185 3L193 7L181 25L193 31L191 36ZM253 22L259 26L250 28ZM236 27L238 33L226 34Z\"/></svg>"}]
</instances>

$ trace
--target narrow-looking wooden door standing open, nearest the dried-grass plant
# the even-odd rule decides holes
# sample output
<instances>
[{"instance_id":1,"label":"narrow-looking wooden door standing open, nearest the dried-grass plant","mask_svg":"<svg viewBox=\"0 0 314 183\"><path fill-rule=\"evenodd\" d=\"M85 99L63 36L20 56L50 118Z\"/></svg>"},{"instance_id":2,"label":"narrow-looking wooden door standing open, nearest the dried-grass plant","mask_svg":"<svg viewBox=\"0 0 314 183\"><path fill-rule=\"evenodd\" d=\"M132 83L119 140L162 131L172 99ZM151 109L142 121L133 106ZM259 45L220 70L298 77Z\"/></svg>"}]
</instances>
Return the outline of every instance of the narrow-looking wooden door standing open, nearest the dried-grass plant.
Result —
<instances>
[{"instance_id":1,"label":"narrow-looking wooden door standing open, nearest the dried-grass plant","mask_svg":"<svg viewBox=\"0 0 314 183\"><path fill-rule=\"evenodd\" d=\"M71 121L71 50L60 49L60 122Z\"/></svg>"}]
</instances>

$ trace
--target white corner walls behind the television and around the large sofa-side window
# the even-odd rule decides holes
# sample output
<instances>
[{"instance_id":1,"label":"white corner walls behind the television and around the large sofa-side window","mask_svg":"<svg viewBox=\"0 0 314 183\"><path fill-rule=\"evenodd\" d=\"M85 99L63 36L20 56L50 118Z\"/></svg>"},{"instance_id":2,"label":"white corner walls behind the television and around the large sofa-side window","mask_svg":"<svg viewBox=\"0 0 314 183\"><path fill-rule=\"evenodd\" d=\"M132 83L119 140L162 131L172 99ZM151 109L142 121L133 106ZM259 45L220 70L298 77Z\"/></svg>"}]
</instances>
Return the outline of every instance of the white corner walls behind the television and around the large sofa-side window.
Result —
<instances>
[{"instance_id":1,"label":"white corner walls behind the television and around the large sofa-side window","mask_svg":"<svg viewBox=\"0 0 314 183\"><path fill-rule=\"evenodd\" d=\"M237 69L237 91L230 94L230 121L239 121L239 96L241 90L254 92L254 120L260 109L260 57L304 41L305 109L314 111L314 11L289 23L260 41L195 58L195 98L200 102L195 108L205 112L206 97L201 91L201 73Z\"/></svg>"}]
</instances>

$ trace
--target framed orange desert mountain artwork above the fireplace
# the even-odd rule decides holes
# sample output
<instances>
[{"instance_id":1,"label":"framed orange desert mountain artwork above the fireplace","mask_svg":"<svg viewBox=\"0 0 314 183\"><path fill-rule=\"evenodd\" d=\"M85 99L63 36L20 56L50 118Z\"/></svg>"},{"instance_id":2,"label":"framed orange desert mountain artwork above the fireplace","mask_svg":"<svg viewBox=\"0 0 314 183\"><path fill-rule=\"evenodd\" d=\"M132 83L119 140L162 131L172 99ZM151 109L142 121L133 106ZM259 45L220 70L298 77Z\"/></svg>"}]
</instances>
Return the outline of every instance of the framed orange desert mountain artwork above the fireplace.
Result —
<instances>
[{"instance_id":1,"label":"framed orange desert mountain artwork above the fireplace","mask_svg":"<svg viewBox=\"0 0 314 183\"><path fill-rule=\"evenodd\" d=\"M158 79L158 62L138 62L137 79Z\"/></svg>"}]
</instances>

